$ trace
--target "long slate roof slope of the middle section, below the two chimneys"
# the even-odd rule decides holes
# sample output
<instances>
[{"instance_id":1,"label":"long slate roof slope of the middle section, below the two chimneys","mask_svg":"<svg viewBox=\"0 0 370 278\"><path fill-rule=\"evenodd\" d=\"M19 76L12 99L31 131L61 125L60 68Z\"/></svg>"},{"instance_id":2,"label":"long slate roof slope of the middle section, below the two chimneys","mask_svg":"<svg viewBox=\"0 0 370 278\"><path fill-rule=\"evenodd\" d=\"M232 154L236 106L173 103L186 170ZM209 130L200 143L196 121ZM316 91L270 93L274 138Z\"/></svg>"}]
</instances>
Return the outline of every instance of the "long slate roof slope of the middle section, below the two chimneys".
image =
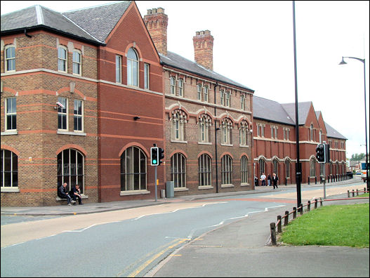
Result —
<instances>
[{"instance_id":1,"label":"long slate roof slope of the middle section, below the two chimneys","mask_svg":"<svg viewBox=\"0 0 370 278\"><path fill-rule=\"evenodd\" d=\"M210 69L206 69L205 67L198 65L196 62L187 60L186 58L183 58L182 56L176 53L167 51L166 56L159 53L159 58L161 58L162 65L176 67L178 69L183 69L187 72L192 72L193 74L198 74L202 77L208 77L216 81L222 81L225 84L230 84L230 85L238 86L240 88L245 88L248 91L253 91L251 88L248 88L247 86L244 86L235 81L232 81L231 79L228 79L227 77L224 77L223 75L218 74L217 72L213 72Z\"/></svg>"}]
</instances>

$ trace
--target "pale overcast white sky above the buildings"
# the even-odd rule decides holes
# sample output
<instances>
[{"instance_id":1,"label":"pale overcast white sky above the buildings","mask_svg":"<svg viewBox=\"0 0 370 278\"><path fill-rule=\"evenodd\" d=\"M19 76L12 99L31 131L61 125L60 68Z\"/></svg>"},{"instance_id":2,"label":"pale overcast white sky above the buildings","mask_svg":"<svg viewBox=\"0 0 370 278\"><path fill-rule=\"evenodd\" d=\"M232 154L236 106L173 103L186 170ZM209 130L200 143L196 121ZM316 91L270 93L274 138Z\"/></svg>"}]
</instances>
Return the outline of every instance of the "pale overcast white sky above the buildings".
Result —
<instances>
[{"instance_id":1,"label":"pale overcast white sky above the buildings","mask_svg":"<svg viewBox=\"0 0 370 278\"><path fill-rule=\"evenodd\" d=\"M35 4L64 12L114 1L1 1L1 15ZM292 1L136 1L169 16L168 50L194 60L192 37L209 29L213 70L279 103L295 102ZM364 64L369 103L369 1L296 1L298 102L312 101L348 138L347 157L365 152ZM268 113L266 107L266 113ZM369 142L369 105L367 132ZM368 144L368 152L370 145Z\"/></svg>"}]
</instances>

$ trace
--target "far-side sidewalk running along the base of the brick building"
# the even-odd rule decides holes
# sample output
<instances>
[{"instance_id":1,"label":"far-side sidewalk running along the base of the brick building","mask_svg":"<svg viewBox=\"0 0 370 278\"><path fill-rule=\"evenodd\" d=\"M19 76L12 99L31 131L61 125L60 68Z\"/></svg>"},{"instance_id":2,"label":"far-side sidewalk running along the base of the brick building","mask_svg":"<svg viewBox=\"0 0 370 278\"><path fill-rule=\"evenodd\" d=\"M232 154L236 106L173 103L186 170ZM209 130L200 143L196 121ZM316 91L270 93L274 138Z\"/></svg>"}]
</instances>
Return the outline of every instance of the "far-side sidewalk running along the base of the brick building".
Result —
<instances>
[{"instance_id":1,"label":"far-side sidewalk running along the base of the brick building","mask_svg":"<svg viewBox=\"0 0 370 278\"><path fill-rule=\"evenodd\" d=\"M347 185L359 181L359 179L342 180L336 183L326 184L326 187L332 187L334 185ZM302 184L301 187L322 187L323 185L317 183ZM133 201L110 201L104 203L87 203L84 205L67 206L65 203L58 206L1 206L1 215L17 215L17 216L69 216L74 214L86 214L86 213L99 213L105 211L117 211L120 209L133 209L141 206L155 206L159 204L165 204L169 202L180 202L180 201L192 201L195 199L207 199L215 197L225 197L243 194L256 194L262 192L278 192L282 188L296 187L296 185L279 185L279 189L273 190L272 186L256 187L255 190L249 191L238 191L238 192L220 192L211 194L198 194L189 195L175 198L164 198L160 199L145 199L145 200L133 200ZM362 186L359 186L359 190ZM84 200L82 200L84 202Z\"/></svg>"}]
</instances>

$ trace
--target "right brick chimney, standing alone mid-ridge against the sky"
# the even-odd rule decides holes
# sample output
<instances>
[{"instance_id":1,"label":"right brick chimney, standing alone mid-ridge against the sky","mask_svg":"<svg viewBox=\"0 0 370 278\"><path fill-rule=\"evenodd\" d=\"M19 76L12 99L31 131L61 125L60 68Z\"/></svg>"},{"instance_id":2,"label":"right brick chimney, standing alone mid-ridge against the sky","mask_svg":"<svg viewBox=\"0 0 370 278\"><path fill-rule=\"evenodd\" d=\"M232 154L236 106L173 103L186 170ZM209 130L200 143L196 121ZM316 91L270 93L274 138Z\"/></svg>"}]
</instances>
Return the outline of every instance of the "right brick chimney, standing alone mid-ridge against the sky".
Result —
<instances>
[{"instance_id":1,"label":"right brick chimney, standing alone mid-ridge against the sky","mask_svg":"<svg viewBox=\"0 0 370 278\"><path fill-rule=\"evenodd\" d=\"M192 37L194 44L194 60L197 64L213 70L213 36L211 31L198 31Z\"/></svg>"}]
</instances>

